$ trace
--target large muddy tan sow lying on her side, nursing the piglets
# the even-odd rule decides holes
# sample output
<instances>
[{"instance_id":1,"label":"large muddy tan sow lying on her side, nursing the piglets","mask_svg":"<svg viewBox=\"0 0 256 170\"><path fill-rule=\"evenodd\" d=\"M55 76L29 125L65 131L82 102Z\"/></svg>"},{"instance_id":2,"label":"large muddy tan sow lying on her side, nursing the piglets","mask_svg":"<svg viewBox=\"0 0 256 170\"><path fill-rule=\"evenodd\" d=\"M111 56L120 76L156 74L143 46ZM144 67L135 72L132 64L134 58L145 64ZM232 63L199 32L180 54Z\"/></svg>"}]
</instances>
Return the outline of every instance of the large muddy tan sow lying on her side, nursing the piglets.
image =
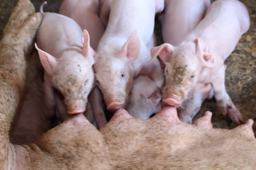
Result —
<instances>
[{"instance_id":1,"label":"large muddy tan sow lying on her side, nursing the piglets","mask_svg":"<svg viewBox=\"0 0 256 170\"><path fill-rule=\"evenodd\" d=\"M0 169L255 169L252 120L233 130L213 129L207 112L188 125L172 107L147 120L119 109L100 131L84 115L73 115L35 144L10 144L26 56L40 23L31 2L19 0L0 42Z\"/></svg>"}]
</instances>

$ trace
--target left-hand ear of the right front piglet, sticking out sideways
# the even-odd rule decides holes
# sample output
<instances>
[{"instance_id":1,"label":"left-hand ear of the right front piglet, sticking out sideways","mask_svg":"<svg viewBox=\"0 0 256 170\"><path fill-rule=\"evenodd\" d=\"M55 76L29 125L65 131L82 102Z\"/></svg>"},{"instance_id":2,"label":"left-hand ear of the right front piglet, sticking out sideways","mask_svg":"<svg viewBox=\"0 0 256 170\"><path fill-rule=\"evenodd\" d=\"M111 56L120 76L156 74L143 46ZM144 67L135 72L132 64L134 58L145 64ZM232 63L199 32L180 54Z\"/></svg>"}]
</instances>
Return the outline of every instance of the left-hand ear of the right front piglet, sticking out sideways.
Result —
<instances>
[{"instance_id":1,"label":"left-hand ear of the right front piglet, sticking out sideways","mask_svg":"<svg viewBox=\"0 0 256 170\"><path fill-rule=\"evenodd\" d=\"M150 51L151 57L152 57L151 61L154 60L157 57L157 55L159 55L161 60L163 60L164 62L168 62L170 58L169 56L171 56L174 50L175 50L174 45L171 45L169 43L164 43L157 47L152 47Z\"/></svg>"}]
</instances>

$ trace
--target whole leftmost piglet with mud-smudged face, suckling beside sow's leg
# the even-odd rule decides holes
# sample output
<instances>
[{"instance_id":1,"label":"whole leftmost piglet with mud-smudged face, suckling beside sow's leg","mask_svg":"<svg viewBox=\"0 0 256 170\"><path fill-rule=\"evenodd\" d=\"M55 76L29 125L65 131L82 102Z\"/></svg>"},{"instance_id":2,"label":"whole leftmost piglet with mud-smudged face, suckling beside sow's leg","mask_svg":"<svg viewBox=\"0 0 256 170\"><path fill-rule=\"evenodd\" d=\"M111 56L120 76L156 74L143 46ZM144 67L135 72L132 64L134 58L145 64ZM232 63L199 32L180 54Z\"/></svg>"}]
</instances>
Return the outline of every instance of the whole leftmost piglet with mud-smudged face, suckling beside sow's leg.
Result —
<instances>
[{"instance_id":1,"label":"whole leftmost piglet with mud-smudged face, suckling beside sow's leg","mask_svg":"<svg viewBox=\"0 0 256 170\"><path fill-rule=\"evenodd\" d=\"M56 100L60 114L65 114L65 110L70 114L84 112L94 81L92 64L95 52L90 47L87 31L82 33L78 24L66 16L43 13L36 41L36 49L46 70L44 91L50 111L54 111ZM61 95L55 95L53 88L63 95L65 105L61 104Z\"/></svg>"}]
</instances>

